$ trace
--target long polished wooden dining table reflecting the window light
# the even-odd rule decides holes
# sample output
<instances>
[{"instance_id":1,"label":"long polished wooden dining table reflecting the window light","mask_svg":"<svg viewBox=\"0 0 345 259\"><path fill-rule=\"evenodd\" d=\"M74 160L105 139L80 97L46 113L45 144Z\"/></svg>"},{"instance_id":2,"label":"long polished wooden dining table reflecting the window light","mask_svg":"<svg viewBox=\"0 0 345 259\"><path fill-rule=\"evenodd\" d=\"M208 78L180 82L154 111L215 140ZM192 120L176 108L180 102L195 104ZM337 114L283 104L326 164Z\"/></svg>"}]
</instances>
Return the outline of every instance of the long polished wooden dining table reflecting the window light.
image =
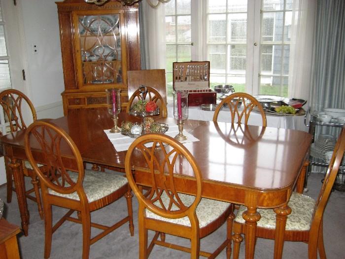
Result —
<instances>
[{"instance_id":1,"label":"long polished wooden dining table reflecting the window light","mask_svg":"<svg viewBox=\"0 0 345 259\"><path fill-rule=\"evenodd\" d=\"M118 124L124 120L140 118L120 113ZM160 118L160 122L173 124L173 118ZM63 128L78 147L86 163L124 169L126 151L116 151L104 129L113 121L106 111L83 110L50 121ZM184 130L199 141L185 143L195 157L203 177L202 195L207 198L242 204L247 207L245 220L245 258L254 257L255 231L260 214L257 208L273 208L276 212L276 239L274 257L281 258L287 203L294 188L302 192L306 173L306 159L312 137L298 130L232 125L224 122L186 120ZM18 205L25 235L29 233L29 211L25 198L24 176L20 160L24 151L25 130L1 137L4 155L17 192ZM39 161L39 156L36 158ZM193 193L193 177L186 172L178 191ZM144 173L136 172L136 181L146 185Z\"/></svg>"}]
</instances>

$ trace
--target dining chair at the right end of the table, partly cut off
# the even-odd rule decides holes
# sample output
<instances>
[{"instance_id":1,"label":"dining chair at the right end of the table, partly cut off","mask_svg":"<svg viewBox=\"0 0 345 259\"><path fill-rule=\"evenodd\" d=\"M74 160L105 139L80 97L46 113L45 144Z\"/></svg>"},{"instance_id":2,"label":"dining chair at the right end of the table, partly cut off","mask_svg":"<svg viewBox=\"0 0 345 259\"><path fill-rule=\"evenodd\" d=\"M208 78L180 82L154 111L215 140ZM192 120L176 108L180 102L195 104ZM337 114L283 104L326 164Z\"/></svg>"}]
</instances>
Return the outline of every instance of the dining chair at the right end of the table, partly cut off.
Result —
<instances>
[{"instance_id":1,"label":"dining chair at the right end of the table, partly cut off","mask_svg":"<svg viewBox=\"0 0 345 259\"><path fill-rule=\"evenodd\" d=\"M308 258L317 259L317 251L321 259L326 259L323 244L323 213L327 205L329 195L337 177L339 166L342 162L345 149L345 127L343 127L333 151L328 170L326 172L320 193L315 201L311 197L293 192L288 202L288 215L283 235L284 241L302 241L308 243ZM241 234L245 231L245 223L242 213L246 210L240 206L233 222L234 259L239 258L240 244L243 240ZM261 219L257 222L256 236L275 239L276 213L272 209L257 209ZM277 257L281 258L282 248L277 251Z\"/></svg>"}]
</instances>

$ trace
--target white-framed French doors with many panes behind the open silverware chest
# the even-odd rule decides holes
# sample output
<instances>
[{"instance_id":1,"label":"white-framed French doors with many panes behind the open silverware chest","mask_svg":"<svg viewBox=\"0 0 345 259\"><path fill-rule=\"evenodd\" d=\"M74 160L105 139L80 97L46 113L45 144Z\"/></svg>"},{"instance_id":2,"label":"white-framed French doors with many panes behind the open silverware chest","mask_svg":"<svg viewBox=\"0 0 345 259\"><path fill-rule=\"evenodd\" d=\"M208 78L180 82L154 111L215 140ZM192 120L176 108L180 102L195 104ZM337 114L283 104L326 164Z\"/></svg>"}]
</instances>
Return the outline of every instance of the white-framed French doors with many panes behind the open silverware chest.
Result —
<instances>
[{"instance_id":1,"label":"white-framed French doors with many panes behind the open silverware chest","mask_svg":"<svg viewBox=\"0 0 345 259\"><path fill-rule=\"evenodd\" d=\"M173 61L210 61L210 84L287 96L292 0L171 0L165 4L167 81Z\"/></svg>"}]
</instances>

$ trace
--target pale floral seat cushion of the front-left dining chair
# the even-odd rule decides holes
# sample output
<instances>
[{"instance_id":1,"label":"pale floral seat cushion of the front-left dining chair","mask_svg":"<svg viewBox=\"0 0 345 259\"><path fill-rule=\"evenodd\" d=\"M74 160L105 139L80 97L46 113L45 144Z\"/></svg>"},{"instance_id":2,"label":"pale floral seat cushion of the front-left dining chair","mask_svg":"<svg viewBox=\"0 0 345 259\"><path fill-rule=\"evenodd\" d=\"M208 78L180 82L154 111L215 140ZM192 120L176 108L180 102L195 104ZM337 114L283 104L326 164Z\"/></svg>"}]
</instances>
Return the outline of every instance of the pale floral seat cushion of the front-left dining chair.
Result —
<instances>
[{"instance_id":1,"label":"pale floral seat cushion of the front-left dining chair","mask_svg":"<svg viewBox=\"0 0 345 259\"><path fill-rule=\"evenodd\" d=\"M69 176L75 182L78 174L75 172L69 172ZM127 183L128 181L126 177L117 175L114 172L85 170L83 188L88 201L93 202L118 190ZM77 192L62 194L49 189L49 193L73 200L79 200Z\"/></svg>"}]
</instances>

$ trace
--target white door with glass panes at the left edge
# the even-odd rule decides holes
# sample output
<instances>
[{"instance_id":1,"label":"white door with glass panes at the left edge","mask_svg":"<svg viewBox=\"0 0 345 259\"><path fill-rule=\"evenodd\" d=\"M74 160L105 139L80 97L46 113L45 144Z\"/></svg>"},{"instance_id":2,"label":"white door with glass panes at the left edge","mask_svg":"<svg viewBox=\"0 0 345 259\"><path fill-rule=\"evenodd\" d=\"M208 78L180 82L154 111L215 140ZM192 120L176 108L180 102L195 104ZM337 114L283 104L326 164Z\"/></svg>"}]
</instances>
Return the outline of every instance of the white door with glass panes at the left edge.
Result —
<instances>
[{"instance_id":1,"label":"white door with glass panes at the left edge","mask_svg":"<svg viewBox=\"0 0 345 259\"><path fill-rule=\"evenodd\" d=\"M27 95L23 78L23 30L19 0L0 0L0 91L15 88ZM15 5L15 2L17 4ZM0 112L0 130L8 133L8 122ZM7 129L6 129L7 128ZM3 157L0 159L0 185L6 182Z\"/></svg>"}]
</instances>

